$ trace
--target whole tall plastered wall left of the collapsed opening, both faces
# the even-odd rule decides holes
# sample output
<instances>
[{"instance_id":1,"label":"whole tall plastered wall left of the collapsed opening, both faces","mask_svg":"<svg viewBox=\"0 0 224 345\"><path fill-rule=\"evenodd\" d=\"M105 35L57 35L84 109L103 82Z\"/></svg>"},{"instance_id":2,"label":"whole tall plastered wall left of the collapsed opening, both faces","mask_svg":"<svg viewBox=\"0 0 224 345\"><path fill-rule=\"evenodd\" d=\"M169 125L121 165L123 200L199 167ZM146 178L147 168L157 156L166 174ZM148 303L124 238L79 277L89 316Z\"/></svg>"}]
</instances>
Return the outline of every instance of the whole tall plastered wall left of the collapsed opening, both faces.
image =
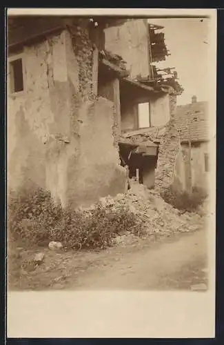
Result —
<instances>
[{"instance_id":1,"label":"whole tall plastered wall left of the collapsed opening, both faces","mask_svg":"<svg viewBox=\"0 0 224 345\"><path fill-rule=\"evenodd\" d=\"M23 63L26 90L8 97L9 188L41 186L74 206L116 193L118 178L122 193L116 115L92 94L88 31L64 30L25 47Z\"/></svg>"}]
</instances>

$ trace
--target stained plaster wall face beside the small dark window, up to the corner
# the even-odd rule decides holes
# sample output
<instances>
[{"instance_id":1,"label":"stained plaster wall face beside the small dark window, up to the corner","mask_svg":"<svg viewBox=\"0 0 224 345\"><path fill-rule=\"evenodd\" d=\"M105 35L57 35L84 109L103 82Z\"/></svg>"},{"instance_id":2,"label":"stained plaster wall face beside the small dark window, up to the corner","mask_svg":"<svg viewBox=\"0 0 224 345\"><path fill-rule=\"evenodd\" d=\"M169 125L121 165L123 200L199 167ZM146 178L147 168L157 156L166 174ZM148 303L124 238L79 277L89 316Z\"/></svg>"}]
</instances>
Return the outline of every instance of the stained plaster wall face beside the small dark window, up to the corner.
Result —
<instances>
[{"instance_id":1,"label":"stained plaster wall face beside the small dark window, up to the corner","mask_svg":"<svg viewBox=\"0 0 224 345\"><path fill-rule=\"evenodd\" d=\"M24 47L25 89L8 97L9 188L30 181L62 200L65 173L61 166L69 149L56 137L70 130L65 59L63 32ZM61 151L66 152L62 162L58 159Z\"/></svg>"}]
</instances>

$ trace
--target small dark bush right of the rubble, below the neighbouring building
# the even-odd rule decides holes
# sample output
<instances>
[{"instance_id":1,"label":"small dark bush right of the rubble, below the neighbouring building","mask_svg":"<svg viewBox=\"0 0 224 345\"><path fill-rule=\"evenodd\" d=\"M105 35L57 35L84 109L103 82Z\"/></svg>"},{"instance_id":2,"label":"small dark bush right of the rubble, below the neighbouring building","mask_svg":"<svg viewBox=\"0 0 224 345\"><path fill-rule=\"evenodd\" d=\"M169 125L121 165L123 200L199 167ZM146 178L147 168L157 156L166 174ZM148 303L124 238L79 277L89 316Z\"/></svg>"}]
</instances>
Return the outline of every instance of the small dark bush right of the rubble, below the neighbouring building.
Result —
<instances>
[{"instance_id":1,"label":"small dark bush right of the rubble, below the neighbouring building","mask_svg":"<svg viewBox=\"0 0 224 345\"><path fill-rule=\"evenodd\" d=\"M193 188L192 194L187 192L176 192L172 188L167 188L161 193L161 197L178 210L185 210L187 212L194 212L198 206L203 204L203 201L207 197L207 193L203 188Z\"/></svg>"}]
</instances>

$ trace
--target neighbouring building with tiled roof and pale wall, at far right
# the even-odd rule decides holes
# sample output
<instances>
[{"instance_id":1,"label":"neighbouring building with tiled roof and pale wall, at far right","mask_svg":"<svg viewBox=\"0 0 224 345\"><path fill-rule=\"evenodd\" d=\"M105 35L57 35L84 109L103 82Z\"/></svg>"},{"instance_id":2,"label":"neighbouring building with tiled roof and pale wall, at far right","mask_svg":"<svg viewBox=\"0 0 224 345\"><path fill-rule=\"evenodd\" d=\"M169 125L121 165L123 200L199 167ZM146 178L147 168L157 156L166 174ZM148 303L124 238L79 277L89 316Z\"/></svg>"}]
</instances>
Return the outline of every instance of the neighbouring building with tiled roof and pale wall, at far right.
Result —
<instances>
[{"instance_id":1,"label":"neighbouring building with tiled roof and pale wall, at far right","mask_svg":"<svg viewBox=\"0 0 224 345\"><path fill-rule=\"evenodd\" d=\"M193 187L206 189L207 175L210 171L208 103L198 102L196 96L193 96L192 103L178 106L176 126L185 157L186 184L190 183L189 179L191 179Z\"/></svg>"}]
</instances>

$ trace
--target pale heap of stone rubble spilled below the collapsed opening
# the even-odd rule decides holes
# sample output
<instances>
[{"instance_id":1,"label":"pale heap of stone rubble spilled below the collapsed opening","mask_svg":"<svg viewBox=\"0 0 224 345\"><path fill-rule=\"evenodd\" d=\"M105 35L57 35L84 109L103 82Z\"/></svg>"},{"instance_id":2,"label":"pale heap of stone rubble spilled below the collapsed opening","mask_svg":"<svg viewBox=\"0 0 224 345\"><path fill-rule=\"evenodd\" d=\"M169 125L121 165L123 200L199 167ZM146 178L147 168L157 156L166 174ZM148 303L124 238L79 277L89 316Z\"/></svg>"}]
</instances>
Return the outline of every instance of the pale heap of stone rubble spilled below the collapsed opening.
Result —
<instances>
[{"instance_id":1,"label":"pale heap of stone rubble spilled below the collapsed opening","mask_svg":"<svg viewBox=\"0 0 224 345\"><path fill-rule=\"evenodd\" d=\"M102 197L102 207L117 210L128 207L143 224L147 235L172 235L172 233L187 233L204 228L204 218L197 213L181 213L167 204L155 190L132 182L128 193L116 197ZM94 206L92 206L93 208ZM88 211L87 211L88 212Z\"/></svg>"}]
</instances>

